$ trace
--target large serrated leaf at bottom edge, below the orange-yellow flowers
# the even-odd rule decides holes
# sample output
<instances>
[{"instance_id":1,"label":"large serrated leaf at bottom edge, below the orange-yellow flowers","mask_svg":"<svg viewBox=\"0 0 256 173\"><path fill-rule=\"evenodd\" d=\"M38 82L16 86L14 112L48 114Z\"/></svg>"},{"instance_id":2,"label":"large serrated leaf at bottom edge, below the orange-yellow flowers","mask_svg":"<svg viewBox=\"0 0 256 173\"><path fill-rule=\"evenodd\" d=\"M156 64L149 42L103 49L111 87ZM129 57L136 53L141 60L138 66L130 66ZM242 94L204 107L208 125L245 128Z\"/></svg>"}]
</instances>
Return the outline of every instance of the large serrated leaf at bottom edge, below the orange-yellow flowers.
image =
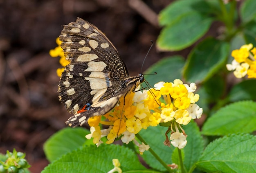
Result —
<instances>
[{"instance_id":1,"label":"large serrated leaf at bottom edge, below the orange-yellow flowers","mask_svg":"<svg viewBox=\"0 0 256 173\"><path fill-rule=\"evenodd\" d=\"M42 173L106 173L114 168L112 159L119 160L123 173L147 172L131 149L120 145L102 144L98 148L90 145L67 153L49 164Z\"/></svg>"}]
</instances>

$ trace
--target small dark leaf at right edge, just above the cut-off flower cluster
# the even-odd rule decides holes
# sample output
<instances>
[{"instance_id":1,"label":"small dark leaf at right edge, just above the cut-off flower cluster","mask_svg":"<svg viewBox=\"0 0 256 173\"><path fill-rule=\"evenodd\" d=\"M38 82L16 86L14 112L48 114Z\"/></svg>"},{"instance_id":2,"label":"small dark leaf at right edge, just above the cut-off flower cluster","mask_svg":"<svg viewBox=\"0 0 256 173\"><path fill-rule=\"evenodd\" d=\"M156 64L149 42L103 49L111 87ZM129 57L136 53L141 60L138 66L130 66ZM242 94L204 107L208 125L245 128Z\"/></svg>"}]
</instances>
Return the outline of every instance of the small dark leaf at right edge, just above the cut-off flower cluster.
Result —
<instances>
[{"instance_id":1,"label":"small dark leaf at right edge, just above the cut-off flower cluster","mask_svg":"<svg viewBox=\"0 0 256 173\"><path fill-rule=\"evenodd\" d=\"M255 1L256 2L256 1ZM249 22L243 29L246 43L252 43L254 46L256 45L256 21Z\"/></svg>"}]
</instances>

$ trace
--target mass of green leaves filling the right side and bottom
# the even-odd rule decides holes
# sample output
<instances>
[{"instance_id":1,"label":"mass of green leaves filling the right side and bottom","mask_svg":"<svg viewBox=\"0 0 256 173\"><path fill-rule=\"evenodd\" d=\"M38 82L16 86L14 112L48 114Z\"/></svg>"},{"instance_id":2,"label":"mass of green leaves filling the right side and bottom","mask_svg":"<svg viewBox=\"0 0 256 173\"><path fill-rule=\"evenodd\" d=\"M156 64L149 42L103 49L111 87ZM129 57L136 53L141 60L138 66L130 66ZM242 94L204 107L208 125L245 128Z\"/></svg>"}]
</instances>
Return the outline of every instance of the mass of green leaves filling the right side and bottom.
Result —
<instances>
[{"instance_id":1,"label":"mass of green leaves filling the right side and bottom","mask_svg":"<svg viewBox=\"0 0 256 173\"><path fill-rule=\"evenodd\" d=\"M207 120L202 131L194 121L182 127L187 134L184 149L163 144L170 138L169 132L165 135L168 128L164 123L140 131L137 138L150 146L139 157L146 169L131 142L97 148L85 138L89 131L66 128L45 143L45 154L52 163L43 173L106 173L114 168L112 159L119 160L124 173L255 172L256 138L248 133L256 131L256 80L229 79L233 76L225 65L233 59L232 50L243 44L256 46L256 1L243 1L238 11L236 6L235 0L229 4L222 0L176 0L159 14L163 26L157 39L160 50L182 50L196 43L188 57L166 57L145 72L157 72L145 76L150 84L174 79L197 83L197 104ZM213 22L222 23L224 32L218 37L203 37ZM171 170L171 164L178 170Z\"/></svg>"}]
</instances>

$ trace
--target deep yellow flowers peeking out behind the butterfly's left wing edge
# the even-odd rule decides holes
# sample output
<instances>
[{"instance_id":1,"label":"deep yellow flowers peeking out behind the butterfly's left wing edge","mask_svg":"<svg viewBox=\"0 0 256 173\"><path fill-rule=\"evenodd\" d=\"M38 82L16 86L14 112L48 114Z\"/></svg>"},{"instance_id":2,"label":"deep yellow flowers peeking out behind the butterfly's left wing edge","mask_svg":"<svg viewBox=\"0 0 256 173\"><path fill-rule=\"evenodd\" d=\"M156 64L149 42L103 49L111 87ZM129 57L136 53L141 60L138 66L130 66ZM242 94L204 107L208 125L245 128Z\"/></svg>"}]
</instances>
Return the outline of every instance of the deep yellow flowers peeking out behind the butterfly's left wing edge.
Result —
<instances>
[{"instance_id":1,"label":"deep yellow flowers peeking out behind the butterfly's left wing edge","mask_svg":"<svg viewBox=\"0 0 256 173\"><path fill-rule=\"evenodd\" d=\"M59 38L56 39L56 43L58 46L55 49L50 50L49 54L51 57L61 57L60 58L60 64L61 66L65 67L67 64L70 64L69 61L66 60L65 55L63 53L63 49L61 48L61 41ZM57 69L57 75L58 77L61 77L61 73L64 71L64 68L58 68Z\"/></svg>"}]
</instances>

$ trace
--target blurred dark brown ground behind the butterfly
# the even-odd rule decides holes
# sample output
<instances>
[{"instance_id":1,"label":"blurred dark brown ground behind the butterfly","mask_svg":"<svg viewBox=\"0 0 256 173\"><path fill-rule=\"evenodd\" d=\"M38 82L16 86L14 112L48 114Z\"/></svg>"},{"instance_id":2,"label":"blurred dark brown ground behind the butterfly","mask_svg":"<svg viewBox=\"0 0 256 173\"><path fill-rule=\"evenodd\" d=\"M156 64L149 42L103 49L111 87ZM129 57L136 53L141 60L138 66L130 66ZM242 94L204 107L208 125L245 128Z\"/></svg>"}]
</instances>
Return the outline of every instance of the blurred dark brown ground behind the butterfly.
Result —
<instances>
[{"instance_id":1,"label":"blurred dark brown ground behind the butterfly","mask_svg":"<svg viewBox=\"0 0 256 173\"><path fill-rule=\"evenodd\" d=\"M112 41L130 75L159 35L157 14L171 0L0 0L0 153L25 152L32 173L49 162L44 142L71 116L58 101L58 58L49 56L62 25L77 17ZM189 50L178 54L186 57ZM166 55L154 46L143 70ZM67 141L68 142L68 141Z\"/></svg>"}]
</instances>

